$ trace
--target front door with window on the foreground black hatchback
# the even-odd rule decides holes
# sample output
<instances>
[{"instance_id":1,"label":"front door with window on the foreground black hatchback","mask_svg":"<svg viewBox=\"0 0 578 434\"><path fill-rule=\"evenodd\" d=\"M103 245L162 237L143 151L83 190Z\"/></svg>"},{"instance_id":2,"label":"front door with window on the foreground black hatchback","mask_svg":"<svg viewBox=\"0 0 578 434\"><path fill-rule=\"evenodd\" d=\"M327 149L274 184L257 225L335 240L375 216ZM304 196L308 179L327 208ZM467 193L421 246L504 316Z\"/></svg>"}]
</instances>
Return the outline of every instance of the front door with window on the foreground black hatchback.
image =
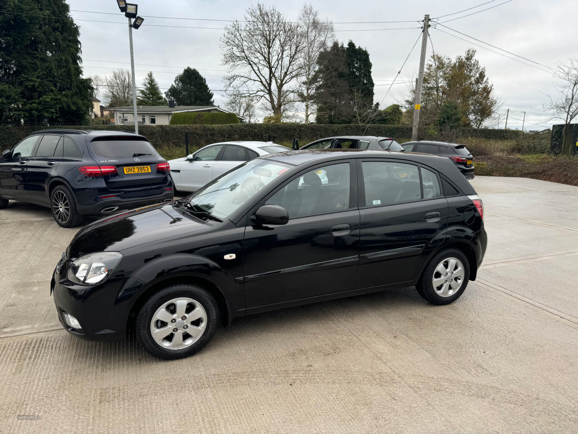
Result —
<instances>
[{"instance_id":1,"label":"front door with window on the foreground black hatchback","mask_svg":"<svg viewBox=\"0 0 578 434\"><path fill-rule=\"evenodd\" d=\"M247 313L277 303L353 290L360 214L354 163L307 170L261 205L286 208L282 226L245 230L243 276Z\"/></svg>"}]
</instances>

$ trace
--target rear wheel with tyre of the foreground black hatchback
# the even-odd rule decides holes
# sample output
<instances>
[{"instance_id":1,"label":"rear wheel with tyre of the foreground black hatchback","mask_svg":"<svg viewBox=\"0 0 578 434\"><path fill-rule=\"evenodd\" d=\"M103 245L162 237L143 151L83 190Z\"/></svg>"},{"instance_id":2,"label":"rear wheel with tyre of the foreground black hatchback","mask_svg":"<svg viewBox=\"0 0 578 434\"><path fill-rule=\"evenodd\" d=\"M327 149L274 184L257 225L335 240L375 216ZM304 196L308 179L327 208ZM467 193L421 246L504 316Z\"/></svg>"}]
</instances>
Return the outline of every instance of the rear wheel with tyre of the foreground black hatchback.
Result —
<instances>
[{"instance_id":1,"label":"rear wheel with tyre of the foreground black hatchback","mask_svg":"<svg viewBox=\"0 0 578 434\"><path fill-rule=\"evenodd\" d=\"M450 304L464 293L469 273L470 264L464 252L444 249L428 262L416 289L431 304Z\"/></svg>"}]
</instances>

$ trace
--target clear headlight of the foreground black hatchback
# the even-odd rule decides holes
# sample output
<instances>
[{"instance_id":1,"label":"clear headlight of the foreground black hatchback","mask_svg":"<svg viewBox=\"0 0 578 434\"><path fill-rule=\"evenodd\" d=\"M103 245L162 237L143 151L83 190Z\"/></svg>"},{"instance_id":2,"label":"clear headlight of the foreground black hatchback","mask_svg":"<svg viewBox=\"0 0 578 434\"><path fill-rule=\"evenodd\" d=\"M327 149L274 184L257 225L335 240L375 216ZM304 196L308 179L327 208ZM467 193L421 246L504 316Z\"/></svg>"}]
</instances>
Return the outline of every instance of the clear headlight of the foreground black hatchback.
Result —
<instances>
[{"instance_id":1,"label":"clear headlight of the foreground black hatchback","mask_svg":"<svg viewBox=\"0 0 578 434\"><path fill-rule=\"evenodd\" d=\"M66 277L79 285L96 285L104 281L123 258L118 252L99 252L81 256L69 267Z\"/></svg>"}]
</instances>

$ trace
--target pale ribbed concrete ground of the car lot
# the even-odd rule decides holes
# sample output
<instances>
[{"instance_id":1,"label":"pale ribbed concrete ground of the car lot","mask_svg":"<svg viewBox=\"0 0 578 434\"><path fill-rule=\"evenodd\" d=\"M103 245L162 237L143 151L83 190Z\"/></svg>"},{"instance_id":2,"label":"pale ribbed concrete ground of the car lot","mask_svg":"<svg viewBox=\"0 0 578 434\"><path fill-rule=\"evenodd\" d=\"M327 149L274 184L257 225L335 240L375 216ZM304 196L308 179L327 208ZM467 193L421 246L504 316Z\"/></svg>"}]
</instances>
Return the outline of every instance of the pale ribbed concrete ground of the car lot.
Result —
<instances>
[{"instance_id":1,"label":"pale ribbed concrete ground of the car lot","mask_svg":"<svg viewBox=\"0 0 578 434\"><path fill-rule=\"evenodd\" d=\"M578 187L472 183L488 251L456 303L406 288L253 315L174 362L61 330L49 280L76 230L12 203L0 432L578 432Z\"/></svg>"}]
</instances>

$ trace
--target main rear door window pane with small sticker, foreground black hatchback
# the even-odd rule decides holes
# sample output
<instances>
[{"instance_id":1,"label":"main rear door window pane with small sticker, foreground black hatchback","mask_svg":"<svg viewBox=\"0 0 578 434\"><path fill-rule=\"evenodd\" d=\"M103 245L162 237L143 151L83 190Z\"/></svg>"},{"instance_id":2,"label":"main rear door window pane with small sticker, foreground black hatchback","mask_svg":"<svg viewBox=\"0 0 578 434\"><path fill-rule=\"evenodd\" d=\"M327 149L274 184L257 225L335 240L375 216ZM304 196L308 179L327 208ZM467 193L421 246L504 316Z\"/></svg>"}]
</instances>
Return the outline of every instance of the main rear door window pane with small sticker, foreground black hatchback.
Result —
<instances>
[{"instance_id":1,"label":"main rear door window pane with small sticker, foreground black hatchback","mask_svg":"<svg viewBox=\"0 0 578 434\"><path fill-rule=\"evenodd\" d=\"M364 161L365 206L409 202L421 198L420 174L413 164Z\"/></svg>"}]
</instances>

